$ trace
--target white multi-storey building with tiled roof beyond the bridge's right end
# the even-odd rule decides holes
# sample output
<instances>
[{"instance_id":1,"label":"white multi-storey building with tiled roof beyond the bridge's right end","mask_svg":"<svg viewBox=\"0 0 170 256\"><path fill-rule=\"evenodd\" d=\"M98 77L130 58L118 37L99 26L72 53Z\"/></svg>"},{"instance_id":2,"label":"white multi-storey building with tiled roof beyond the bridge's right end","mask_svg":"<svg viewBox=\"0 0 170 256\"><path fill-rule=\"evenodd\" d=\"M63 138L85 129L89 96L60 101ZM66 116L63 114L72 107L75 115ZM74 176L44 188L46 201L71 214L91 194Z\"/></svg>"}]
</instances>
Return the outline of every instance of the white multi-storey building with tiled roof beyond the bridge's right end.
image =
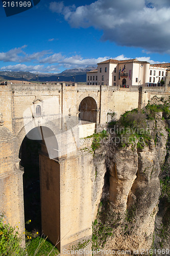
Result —
<instances>
[{"instance_id":1,"label":"white multi-storey building with tiled roof beyond the bridge's right end","mask_svg":"<svg viewBox=\"0 0 170 256\"><path fill-rule=\"evenodd\" d=\"M170 63L150 64L137 59L108 59L98 63L98 69L87 72L87 85L161 86Z\"/></svg>"}]
</instances>

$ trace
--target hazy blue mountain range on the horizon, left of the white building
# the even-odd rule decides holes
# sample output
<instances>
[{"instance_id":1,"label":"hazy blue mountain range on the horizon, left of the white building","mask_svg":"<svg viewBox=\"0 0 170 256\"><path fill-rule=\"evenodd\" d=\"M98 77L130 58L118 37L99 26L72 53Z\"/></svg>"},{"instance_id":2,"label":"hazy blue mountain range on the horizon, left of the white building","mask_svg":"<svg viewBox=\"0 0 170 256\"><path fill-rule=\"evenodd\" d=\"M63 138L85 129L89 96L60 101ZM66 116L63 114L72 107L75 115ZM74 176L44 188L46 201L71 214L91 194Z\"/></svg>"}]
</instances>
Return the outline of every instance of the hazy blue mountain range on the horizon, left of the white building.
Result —
<instances>
[{"instance_id":1,"label":"hazy blue mountain range on the horizon, left of the white building","mask_svg":"<svg viewBox=\"0 0 170 256\"><path fill-rule=\"evenodd\" d=\"M85 69L67 69L59 74L38 74L38 80L41 82L50 82L50 81L75 81L76 82L86 82L86 72L96 69L96 67L87 67ZM31 72L22 72L22 71L0 71L1 80L23 80L24 81L37 81L36 74ZM59 79L58 79L59 77Z\"/></svg>"}]
</instances>

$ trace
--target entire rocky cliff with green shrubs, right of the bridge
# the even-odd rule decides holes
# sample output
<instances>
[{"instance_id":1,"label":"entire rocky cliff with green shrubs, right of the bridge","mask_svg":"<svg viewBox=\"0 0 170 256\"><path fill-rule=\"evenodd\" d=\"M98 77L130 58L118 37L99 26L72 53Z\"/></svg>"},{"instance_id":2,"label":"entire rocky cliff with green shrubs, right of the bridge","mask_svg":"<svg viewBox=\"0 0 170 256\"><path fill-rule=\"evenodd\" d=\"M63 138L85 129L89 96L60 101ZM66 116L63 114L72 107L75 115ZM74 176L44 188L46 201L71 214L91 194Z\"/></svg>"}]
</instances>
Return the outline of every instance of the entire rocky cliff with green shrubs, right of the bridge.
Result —
<instances>
[{"instance_id":1,"label":"entire rocky cliff with green shrubs, right of the bridge","mask_svg":"<svg viewBox=\"0 0 170 256\"><path fill-rule=\"evenodd\" d=\"M108 189L109 197L103 196L93 222L93 248L132 255L134 249L163 255L169 248L169 107L169 98L154 97L142 111L126 112L109 124L94 157L93 201L99 202L96 191L100 195L104 175L109 179L103 193Z\"/></svg>"}]
</instances>

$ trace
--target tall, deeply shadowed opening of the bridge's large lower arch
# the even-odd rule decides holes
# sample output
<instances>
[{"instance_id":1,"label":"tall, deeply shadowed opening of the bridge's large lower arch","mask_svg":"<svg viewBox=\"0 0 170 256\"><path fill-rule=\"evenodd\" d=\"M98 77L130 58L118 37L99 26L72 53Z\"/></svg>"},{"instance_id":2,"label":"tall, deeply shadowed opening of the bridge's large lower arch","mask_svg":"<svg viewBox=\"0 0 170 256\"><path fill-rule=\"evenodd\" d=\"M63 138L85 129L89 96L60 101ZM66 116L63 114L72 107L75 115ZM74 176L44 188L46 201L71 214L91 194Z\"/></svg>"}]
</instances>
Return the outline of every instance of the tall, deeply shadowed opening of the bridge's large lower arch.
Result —
<instances>
[{"instance_id":1,"label":"tall, deeply shadowed opening of the bridge's large lower arch","mask_svg":"<svg viewBox=\"0 0 170 256\"><path fill-rule=\"evenodd\" d=\"M25 222L29 231L44 233L54 244L60 241L60 165L58 143L51 129L39 126L23 139L19 158L24 167ZM60 249L60 243L57 245Z\"/></svg>"}]
</instances>

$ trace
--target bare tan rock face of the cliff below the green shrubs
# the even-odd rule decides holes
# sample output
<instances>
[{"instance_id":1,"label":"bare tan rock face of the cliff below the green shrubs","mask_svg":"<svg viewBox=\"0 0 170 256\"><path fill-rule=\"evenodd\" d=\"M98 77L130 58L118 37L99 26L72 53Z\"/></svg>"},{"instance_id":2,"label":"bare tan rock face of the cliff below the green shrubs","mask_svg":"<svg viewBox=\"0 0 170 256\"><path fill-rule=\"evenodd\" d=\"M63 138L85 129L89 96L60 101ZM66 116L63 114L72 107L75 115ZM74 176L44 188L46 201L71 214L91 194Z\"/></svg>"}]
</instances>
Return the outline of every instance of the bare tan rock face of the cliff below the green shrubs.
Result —
<instances>
[{"instance_id":1,"label":"bare tan rock face of the cliff below the green shrubs","mask_svg":"<svg viewBox=\"0 0 170 256\"><path fill-rule=\"evenodd\" d=\"M109 166L109 212L119 216L119 221L115 226L112 215L110 214L110 219L106 217L108 206L105 205L97 217L98 227L93 227L95 234L100 233L99 226L102 222L104 226L109 225L111 228L110 236L102 243L106 250L141 250L169 246L168 235L165 237L164 234L164 240L162 238L162 225L166 225L167 230L169 228L168 195L161 195L159 178L163 166L166 166L164 176L169 172L170 121L162 118L162 113L164 114L163 111L155 112L152 120L143 119L147 123L150 137L142 146L135 142L116 146L114 149L114 157ZM105 171L106 167L103 173Z\"/></svg>"}]
</instances>

